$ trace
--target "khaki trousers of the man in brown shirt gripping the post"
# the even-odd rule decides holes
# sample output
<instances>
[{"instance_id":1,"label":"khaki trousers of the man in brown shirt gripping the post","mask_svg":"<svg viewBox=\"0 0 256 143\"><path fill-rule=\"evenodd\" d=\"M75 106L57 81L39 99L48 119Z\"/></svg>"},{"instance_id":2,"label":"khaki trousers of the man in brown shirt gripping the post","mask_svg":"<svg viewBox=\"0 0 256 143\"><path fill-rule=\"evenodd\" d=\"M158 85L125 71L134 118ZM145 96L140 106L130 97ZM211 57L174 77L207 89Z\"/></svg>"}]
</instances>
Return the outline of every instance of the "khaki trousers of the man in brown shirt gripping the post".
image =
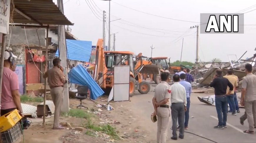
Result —
<instances>
[{"instance_id":1,"label":"khaki trousers of the man in brown shirt gripping the post","mask_svg":"<svg viewBox=\"0 0 256 143\"><path fill-rule=\"evenodd\" d=\"M55 106L53 128L59 128L59 116L61 115L61 106L63 104L63 87L51 88L51 98Z\"/></svg>"}]
</instances>

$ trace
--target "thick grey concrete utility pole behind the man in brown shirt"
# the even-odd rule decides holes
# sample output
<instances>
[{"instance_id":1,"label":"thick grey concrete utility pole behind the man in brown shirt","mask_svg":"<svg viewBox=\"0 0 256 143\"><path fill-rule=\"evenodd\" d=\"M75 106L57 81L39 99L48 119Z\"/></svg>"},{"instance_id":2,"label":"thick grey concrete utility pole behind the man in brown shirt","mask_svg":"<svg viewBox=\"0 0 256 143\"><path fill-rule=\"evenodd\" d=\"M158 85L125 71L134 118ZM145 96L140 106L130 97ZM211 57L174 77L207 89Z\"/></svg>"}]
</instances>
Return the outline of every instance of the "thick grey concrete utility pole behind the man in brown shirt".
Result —
<instances>
[{"instance_id":1,"label":"thick grey concrete utility pole behind the man in brown shirt","mask_svg":"<svg viewBox=\"0 0 256 143\"><path fill-rule=\"evenodd\" d=\"M61 11L61 13L64 14L63 0L57 0L57 6L59 7L59 10ZM64 75L67 78L68 77L67 48L66 48L66 36L65 36L64 25L58 26L58 46L59 46L59 58L61 59L61 66L64 68ZM64 84L64 97L63 97L62 111L69 112L69 87L67 83Z\"/></svg>"}]
</instances>

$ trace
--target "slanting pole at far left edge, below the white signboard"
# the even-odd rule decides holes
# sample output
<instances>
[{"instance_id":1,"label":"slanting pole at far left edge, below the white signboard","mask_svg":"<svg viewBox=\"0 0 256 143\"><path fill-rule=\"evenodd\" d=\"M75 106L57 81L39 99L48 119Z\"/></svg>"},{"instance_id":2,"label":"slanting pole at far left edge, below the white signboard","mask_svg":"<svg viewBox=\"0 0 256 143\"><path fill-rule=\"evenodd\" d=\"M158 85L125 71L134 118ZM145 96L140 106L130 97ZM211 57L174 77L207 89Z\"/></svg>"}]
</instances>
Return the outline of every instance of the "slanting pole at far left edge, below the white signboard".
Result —
<instances>
[{"instance_id":1,"label":"slanting pole at far left edge, below the white signboard","mask_svg":"<svg viewBox=\"0 0 256 143\"><path fill-rule=\"evenodd\" d=\"M1 96L2 96L2 79L3 79L3 70L4 70L5 39L6 39L6 34L3 33L2 34L1 62L0 62L0 109L1 109Z\"/></svg>"}]
</instances>

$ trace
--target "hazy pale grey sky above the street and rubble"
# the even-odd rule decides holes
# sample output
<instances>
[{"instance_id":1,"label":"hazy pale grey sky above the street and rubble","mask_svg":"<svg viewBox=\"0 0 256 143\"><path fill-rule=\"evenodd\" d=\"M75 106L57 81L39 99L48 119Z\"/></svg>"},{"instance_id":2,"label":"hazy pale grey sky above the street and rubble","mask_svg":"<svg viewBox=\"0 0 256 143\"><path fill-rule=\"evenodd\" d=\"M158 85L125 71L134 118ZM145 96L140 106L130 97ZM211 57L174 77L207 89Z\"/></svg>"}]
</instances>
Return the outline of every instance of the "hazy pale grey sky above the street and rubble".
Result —
<instances>
[{"instance_id":1,"label":"hazy pale grey sky above the street and rubble","mask_svg":"<svg viewBox=\"0 0 256 143\"><path fill-rule=\"evenodd\" d=\"M107 11L108 18L109 1L102 0L64 0L64 14L74 23L74 26L71 26L71 33L75 37L79 40L92 41L92 44L96 45L97 40L102 38L102 18L96 15L99 20L94 16L86 1L91 4L100 17L103 15L103 10ZM200 13L236 13L251 6L251 8L242 11L242 13L256 9L255 0L111 1L110 19L122 18L122 20L111 22L111 33L118 32L116 34L116 51L132 51L134 54L142 52L144 56L150 57L150 46L153 44L153 47L155 47L153 49L153 57L167 56L171 58L171 61L176 61L180 59L182 37L184 37L182 61L192 62L195 62L196 58L196 28L190 29L189 27L199 23L160 18L125 8L116 3L154 15L195 22L200 22ZM245 51L247 53L242 59L253 56L256 47L255 14L256 10L244 14L244 23L247 25L245 26L244 34L199 33L200 59L202 61L210 61L213 58L220 58L222 61L228 61L227 54L236 54L240 58ZM113 35L111 39L112 47ZM177 40L179 41L177 42ZM107 43L108 30L106 25ZM230 56L230 58L235 60L235 56Z\"/></svg>"}]
</instances>

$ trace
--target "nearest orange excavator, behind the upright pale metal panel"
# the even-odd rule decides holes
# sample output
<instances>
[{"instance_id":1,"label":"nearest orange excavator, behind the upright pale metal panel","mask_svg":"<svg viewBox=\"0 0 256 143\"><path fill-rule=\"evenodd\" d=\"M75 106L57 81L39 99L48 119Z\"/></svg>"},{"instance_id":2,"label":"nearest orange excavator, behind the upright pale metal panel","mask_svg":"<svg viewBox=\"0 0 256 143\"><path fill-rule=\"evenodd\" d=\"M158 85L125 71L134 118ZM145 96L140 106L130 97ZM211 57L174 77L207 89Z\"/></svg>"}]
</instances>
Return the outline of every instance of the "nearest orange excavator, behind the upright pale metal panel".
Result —
<instances>
[{"instance_id":1,"label":"nearest orange excavator, behind the upright pale metal panel","mask_svg":"<svg viewBox=\"0 0 256 143\"><path fill-rule=\"evenodd\" d=\"M103 39L99 39L96 46L95 80L99 80L100 87L105 92L110 92L114 85L114 66L130 66L129 95L134 95L135 89L141 94L150 90L149 82L142 81L142 73L154 74L158 72L156 65L145 60L142 54L137 55L130 51L103 51Z\"/></svg>"}]
</instances>

